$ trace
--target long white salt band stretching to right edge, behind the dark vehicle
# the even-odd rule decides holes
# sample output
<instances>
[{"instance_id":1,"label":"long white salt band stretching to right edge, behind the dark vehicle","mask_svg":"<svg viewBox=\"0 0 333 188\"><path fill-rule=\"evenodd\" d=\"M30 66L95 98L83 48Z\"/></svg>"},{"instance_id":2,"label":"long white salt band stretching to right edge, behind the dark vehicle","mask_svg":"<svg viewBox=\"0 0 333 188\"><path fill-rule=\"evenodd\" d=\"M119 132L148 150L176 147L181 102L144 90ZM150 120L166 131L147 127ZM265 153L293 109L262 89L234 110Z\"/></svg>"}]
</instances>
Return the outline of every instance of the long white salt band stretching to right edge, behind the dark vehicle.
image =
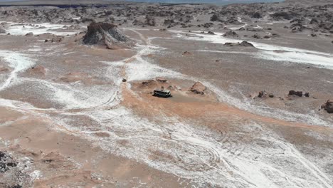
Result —
<instances>
[{"instance_id":1,"label":"long white salt band stretching to right edge, behind the dark vehicle","mask_svg":"<svg viewBox=\"0 0 333 188\"><path fill-rule=\"evenodd\" d=\"M221 36L222 33L216 33L217 35L206 35L201 33L193 33L199 37L193 36L179 36L179 33L185 33L184 31L171 31L176 33L176 37L181 37L194 41L209 41L211 43L238 43L242 40L230 39ZM333 69L333 54L322 53L318 51L309 51L300 48L289 48L284 46L274 46L265 43L251 42L255 48L260 49L258 53L253 53L254 58L262 58L270 61L285 61L292 63L307 63L314 66Z\"/></svg>"}]
</instances>

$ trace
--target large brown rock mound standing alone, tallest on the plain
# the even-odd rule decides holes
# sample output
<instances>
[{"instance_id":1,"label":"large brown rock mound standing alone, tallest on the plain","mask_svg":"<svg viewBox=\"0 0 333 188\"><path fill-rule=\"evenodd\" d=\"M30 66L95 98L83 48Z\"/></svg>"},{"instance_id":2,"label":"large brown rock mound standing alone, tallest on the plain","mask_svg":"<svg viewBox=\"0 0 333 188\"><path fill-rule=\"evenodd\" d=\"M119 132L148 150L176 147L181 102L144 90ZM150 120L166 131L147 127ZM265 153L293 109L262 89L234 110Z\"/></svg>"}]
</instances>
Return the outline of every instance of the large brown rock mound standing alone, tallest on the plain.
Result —
<instances>
[{"instance_id":1,"label":"large brown rock mound standing alone, tallest on the plain","mask_svg":"<svg viewBox=\"0 0 333 188\"><path fill-rule=\"evenodd\" d=\"M87 33L83 36L83 43L103 45L108 49L130 46L129 38L118 30L117 25L105 22L90 23Z\"/></svg>"}]
</instances>

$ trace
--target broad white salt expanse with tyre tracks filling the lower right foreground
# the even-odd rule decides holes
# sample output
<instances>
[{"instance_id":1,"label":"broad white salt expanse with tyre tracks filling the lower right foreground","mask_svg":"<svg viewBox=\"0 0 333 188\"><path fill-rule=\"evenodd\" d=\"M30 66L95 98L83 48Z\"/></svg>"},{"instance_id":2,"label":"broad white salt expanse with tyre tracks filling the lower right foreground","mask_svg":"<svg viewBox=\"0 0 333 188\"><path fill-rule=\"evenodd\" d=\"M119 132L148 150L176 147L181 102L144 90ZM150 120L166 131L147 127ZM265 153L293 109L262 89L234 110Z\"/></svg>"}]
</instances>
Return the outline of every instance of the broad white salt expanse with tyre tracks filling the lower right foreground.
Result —
<instances>
[{"instance_id":1,"label":"broad white salt expanse with tyre tracks filling the lower right foreground","mask_svg":"<svg viewBox=\"0 0 333 188\"><path fill-rule=\"evenodd\" d=\"M246 134L218 135L169 117L159 117L162 119L159 123L151 122L123 107L78 114L100 122L100 127L92 131L65 125L68 129L83 132L104 150L192 179L200 186L331 187L332 184L295 147L262 130L260 125L244 125ZM99 131L109 133L110 137L95 137L94 133ZM260 145L246 144L244 137L249 135L260 141Z\"/></svg>"}]
</instances>

